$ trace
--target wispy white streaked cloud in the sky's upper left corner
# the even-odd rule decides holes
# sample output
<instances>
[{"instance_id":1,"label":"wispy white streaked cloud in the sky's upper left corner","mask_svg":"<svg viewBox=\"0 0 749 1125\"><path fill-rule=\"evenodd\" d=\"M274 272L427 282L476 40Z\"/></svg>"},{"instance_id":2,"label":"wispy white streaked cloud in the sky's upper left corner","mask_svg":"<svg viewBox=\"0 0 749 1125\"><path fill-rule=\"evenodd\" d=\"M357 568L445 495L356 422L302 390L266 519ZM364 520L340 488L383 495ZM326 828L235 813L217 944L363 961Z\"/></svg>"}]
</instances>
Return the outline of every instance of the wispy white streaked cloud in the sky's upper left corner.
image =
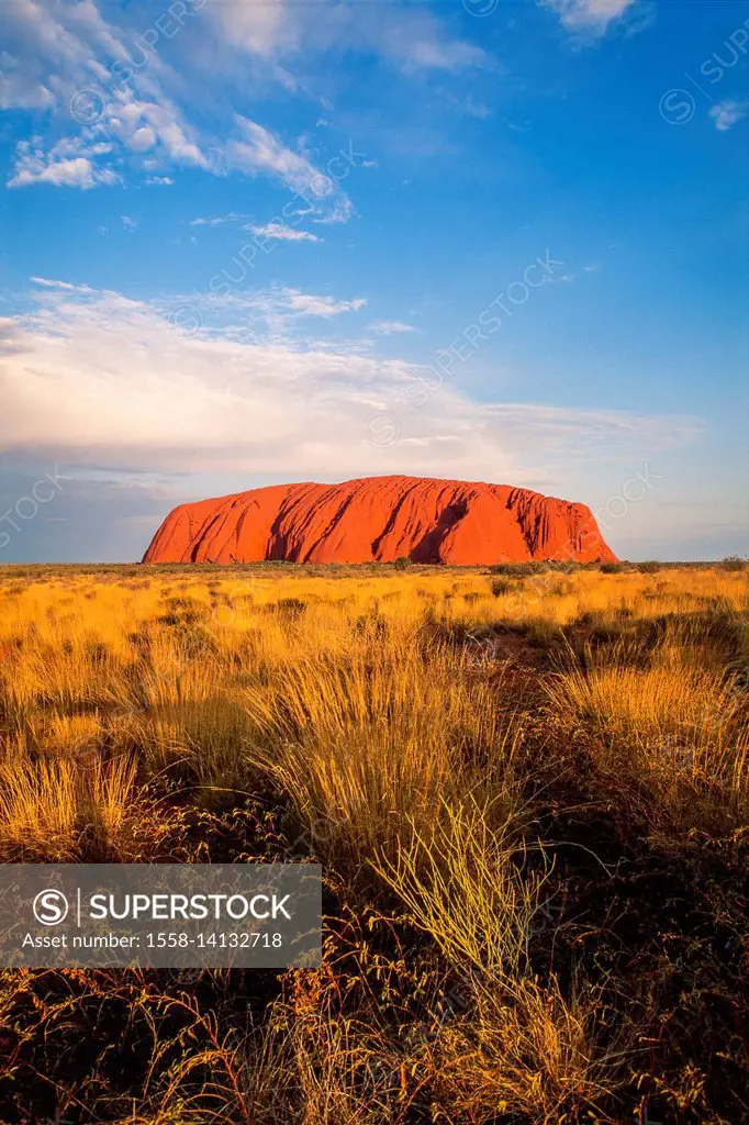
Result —
<instances>
[{"instance_id":1,"label":"wispy white streaked cloud in the sky's upper left corner","mask_svg":"<svg viewBox=\"0 0 749 1125\"><path fill-rule=\"evenodd\" d=\"M231 0L226 7L227 18L235 20L247 9ZM268 16L256 17L259 27L265 19L270 29L274 8L279 18L291 18L283 4L272 0L261 7ZM188 15L206 20L209 28L209 17L201 10L202 6ZM119 15L128 18L125 10ZM107 21L92 0L74 4L12 0L3 8L3 19L7 78L0 84L0 104L44 108L55 122L56 135L61 129L69 133L52 147L42 138L21 141L10 187L47 183L90 190L144 173L147 183L165 184L172 182L169 173L174 168L188 166L218 177L228 171L270 176L309 199L322 220L344 222L353 214L339 178L261 124L236 116L236 132L228 141L198 127L191 119L198 117L199 107L190 84L161 58L159 35L147 47L138 40L134 50L130 36ZM179 32L180 25L174 26ZM228 47L223 44L218 50ZM211 80L213 75L206 79ZM229 99L232 93L229 86Z\"/></svg>"}]
</instances>

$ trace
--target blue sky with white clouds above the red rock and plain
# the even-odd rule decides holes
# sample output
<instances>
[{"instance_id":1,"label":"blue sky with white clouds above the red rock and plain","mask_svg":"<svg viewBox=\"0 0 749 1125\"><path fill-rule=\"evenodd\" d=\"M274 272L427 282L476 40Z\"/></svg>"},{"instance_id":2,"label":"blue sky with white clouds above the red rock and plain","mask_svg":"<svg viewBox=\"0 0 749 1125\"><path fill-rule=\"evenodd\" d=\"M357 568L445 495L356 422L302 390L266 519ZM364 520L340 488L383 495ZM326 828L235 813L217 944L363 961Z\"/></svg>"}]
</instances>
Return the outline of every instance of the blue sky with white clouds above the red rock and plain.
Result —
<instances>
[{"instance_id":1,"label":"blue sky with white clouds above the red rock and plain","mask_svg":"<svg viewBox=\"0 0 749 1125\"><path fill-rule=\"evenodd\" d=\"M0 562L409 472L746 554L749 6L4 0Z\"/></svg>"}]
</instances>

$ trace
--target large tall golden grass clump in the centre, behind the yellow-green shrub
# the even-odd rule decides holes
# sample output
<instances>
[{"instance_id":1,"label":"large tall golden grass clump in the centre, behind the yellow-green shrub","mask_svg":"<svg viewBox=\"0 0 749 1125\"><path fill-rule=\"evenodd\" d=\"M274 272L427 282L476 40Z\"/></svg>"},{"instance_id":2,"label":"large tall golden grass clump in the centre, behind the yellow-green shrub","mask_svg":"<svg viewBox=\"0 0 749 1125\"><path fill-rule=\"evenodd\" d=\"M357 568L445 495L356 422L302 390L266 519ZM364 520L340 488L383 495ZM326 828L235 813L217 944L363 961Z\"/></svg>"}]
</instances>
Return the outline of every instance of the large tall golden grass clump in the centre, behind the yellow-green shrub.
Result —
<instances>
[{"instance_id":1,"label":"large tall golden grass clump in the centre, behind the yellow-green shrub","mask_svg":"<svg viewBox=\"0 0 749 1125\"><path fill-rule=\"evenodd\" d=\"M324 654L245 695L249 759L287 794L317 854L366 874L374 852L428 835L444 800L486 784L512 803L514 742L464 655ZM437 718L439 717L439 718Z\"/></svg>"}]
</instances>

